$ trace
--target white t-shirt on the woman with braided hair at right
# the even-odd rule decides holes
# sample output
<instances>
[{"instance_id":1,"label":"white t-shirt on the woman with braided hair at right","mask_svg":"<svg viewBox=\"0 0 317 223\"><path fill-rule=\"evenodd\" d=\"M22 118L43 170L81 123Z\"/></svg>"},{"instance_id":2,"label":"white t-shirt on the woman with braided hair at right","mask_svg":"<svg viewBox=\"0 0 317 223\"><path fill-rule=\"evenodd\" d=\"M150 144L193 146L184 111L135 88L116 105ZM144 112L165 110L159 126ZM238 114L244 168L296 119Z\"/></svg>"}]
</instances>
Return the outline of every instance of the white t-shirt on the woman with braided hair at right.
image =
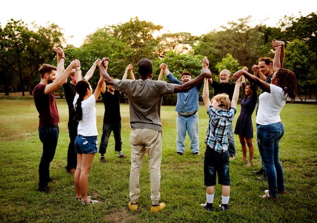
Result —
<instances>
[{"instance_id":1,"label":"white t-shirt on the woman with braided hair at right","mask_svg":"<svg viewBox=\"0 0 317 223\"><path fill-rule=\"evenodd\" d=\"M280 113L286 103L286 96L279 86L270 84L270 92L259 96L259 109L255 122L259 125L269 125L281 122Z\"/></svg>"}]
</instances>

